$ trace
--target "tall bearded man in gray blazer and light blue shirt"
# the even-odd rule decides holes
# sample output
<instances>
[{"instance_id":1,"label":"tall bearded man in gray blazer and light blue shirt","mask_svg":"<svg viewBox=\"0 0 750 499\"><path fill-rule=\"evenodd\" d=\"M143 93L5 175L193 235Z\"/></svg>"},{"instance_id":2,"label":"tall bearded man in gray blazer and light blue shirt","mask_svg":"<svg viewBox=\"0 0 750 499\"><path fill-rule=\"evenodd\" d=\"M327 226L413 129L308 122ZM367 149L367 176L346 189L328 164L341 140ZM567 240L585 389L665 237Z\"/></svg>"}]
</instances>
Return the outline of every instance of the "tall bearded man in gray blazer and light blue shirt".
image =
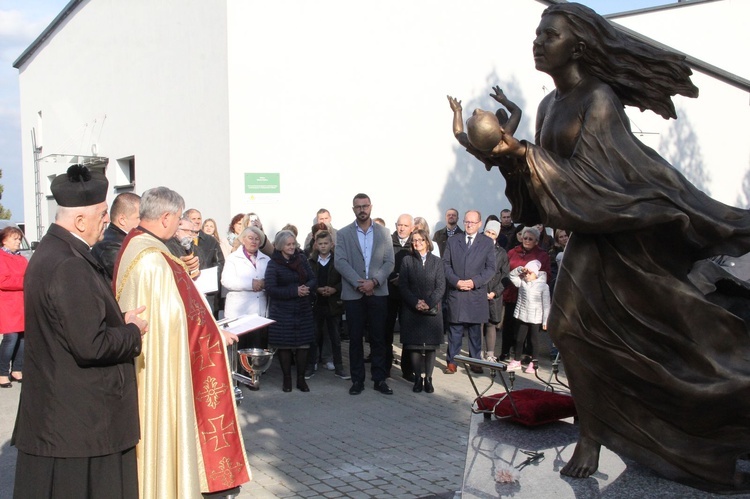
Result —
<instances>
[{"instance_id":1,"label":"tall bearded man in gray blazer and light blue shirt","mask_svg":"<svg viewBox=\"0 0 750 499\"><path fill-rule=\"evenodd\" d=\"M390 395L386 383L385 322L388 315L388 275L394 257L388 229L372 221L372 204L367 194L354 196L356 220L338 231L334 266L341 274L341 299L349 325L349 369L352 387L359 395L365 383L364 335L370 332L371 374L375 389Z\"/></svg>"}]
</instances>

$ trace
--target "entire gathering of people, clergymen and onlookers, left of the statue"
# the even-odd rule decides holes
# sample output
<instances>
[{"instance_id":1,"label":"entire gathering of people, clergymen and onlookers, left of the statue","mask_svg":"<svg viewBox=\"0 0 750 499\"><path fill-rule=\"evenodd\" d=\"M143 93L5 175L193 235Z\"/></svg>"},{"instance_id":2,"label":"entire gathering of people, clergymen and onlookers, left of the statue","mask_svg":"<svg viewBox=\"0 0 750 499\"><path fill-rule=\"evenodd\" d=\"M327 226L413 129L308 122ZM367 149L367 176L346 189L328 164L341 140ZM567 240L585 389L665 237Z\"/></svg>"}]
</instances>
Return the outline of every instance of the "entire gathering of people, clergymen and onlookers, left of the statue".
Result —
<instances>
[{"instance_id":1,"label":"entire gathering of people, clergymen and onlookers, left of the statue","mask_svg":"<svg viewBox=\"0 0 750 499\"><path fill-rule=\"evenodd\" d=\"M87 482L92 469L118 474L113 497L234 490L249 478L241 438L229 455L214 456L214 446L195 433L202 429L175 426L180 418L205 425L220 414L239 434L233 400L218 396L232 393L227 349L217 349L219 343L273 349L284 392L293 386L309 392L307 381L321 366L351 380L349 393L358 395L369 363L379 393L393 393L388 378L399 364L415 393L433 393L446 334L446 373L456 372L452 359L464 332L475 358L497 361L500 333L499 357L520 367L512 356L525 345L529 364L538 326L546 328L550 262L559 263L556 255L567 242L567 233L558 231L548 254L538 244L539 230L515 227L507 210L488 217L483 232L478 211L465 213L461 229L459 212L449 209L446 226L434 234L424 218L409 214L398 217L391 233L371 218L373 206L363 193L353 199L354 221L338 230L330 212L320 209L305 239L291 224L266 234L255 213L234 216L221 234L214 219L185 210L181 196L165 187L143 197L120 194L107 210L103 176L71 167L58 179L52 186L60 206L56 222L30 264L18 254L20 231L0 232L0 387L22 382L24 355L28 372L13 439L21 494L55 489L96 495ZM544 300L536 296L542 288ZM245 314L274 322L238 338L207 320ZM518 325L524 341L516 347ZM34 332L28 343L26 330ZM393 350L396 330L400 359ZM53 337L66 338L67 346ZM91 386L119 394L117 403L86 388ZM81 436L75 444L33 409L41 399L66 397L68 387L75 388L76 407L100 411L95 421L53 404L53 419ZM204 396L211 399L208 407L187 403ZM112 428L118 428L114 440L105 435ZM81 459L57 460L70 455ZM234 460L237 473L211 483L211 466L225 458ZM60 481L63 466L75 484ZM196 467L198 474L187 472ZM130 478L136 476L134 488ZM176 482L165 489L164 477Z\"/></svg>"}]
</instances>

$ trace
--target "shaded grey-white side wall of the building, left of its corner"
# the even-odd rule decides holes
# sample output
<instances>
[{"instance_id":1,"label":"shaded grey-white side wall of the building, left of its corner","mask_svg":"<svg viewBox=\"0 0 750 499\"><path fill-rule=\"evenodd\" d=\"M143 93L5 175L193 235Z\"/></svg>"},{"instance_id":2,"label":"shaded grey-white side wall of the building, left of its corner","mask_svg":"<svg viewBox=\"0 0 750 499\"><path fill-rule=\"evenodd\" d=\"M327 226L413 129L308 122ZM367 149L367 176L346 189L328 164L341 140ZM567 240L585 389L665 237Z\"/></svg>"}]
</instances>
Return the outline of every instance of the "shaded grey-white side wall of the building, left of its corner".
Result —
<instances>
[{"instance_id":1,"label":"shaded grey-white side wall of the building, left of its corner","mask_svg":"<svg viewBox=\"0 0 750 499\"><path fill-rule=\"evenodd\" d=\"M116 160L134 156L138 194L167 185L188 205L227 216L223 1L85 1L19 69L29 234L36 233L31 129L39 111L41 156L91 155L96 144L110 160L110 187L122 183ZM68 166L41 164L43 181ZM44 204L49 226L53 201Z\"/></svg>"}]
</instances>

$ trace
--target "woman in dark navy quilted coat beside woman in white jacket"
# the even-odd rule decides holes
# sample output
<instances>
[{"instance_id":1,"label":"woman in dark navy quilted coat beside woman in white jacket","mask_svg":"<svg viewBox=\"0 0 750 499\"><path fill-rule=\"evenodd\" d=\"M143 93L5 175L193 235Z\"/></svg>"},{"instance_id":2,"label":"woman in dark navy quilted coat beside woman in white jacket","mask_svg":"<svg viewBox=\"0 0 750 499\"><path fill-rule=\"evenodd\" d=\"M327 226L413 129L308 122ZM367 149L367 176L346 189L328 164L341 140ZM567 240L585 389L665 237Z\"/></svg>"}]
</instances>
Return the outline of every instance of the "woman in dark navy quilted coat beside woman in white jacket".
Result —
<instances>
[{"instance_id":1,"label":"woman in dark navy quilted coat beside woman in white jacket","mask_svg":"<svg viewBox=\"0 0 750 499\"><path fill-rule=\"evenodd\" d=\"M294 234L282 230L274 239L275 251L266 268L266 294L270 298L268 343L284 375L283 390L292 391L292 355L297 365L297 388L309 392L305 382L307 351L315 339L312 293L316 282L310 264L299 250Z\"/></svg>"}]
</instances>

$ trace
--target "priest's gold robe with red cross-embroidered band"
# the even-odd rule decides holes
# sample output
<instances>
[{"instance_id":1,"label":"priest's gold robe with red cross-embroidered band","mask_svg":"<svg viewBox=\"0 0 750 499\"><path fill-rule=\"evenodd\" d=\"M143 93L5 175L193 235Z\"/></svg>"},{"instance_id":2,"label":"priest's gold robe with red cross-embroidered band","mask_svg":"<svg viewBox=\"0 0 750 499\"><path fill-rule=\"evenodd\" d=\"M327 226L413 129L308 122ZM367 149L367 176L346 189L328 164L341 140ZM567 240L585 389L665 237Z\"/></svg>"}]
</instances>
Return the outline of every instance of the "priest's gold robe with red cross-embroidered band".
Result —
<instances>
[{"instance_id":1,"label":"priest's gold robe with red cross-embroidered band","mask_svg":"<svg viewBox=\"0 0 750 499\"><path fill-rule=\"evenodd\" d=\"M250 480L221 333L187 270L141 228L115 267L122 310L145 305L136 358L142 498L200 498Z\"/></svg>"}]
</instances>

